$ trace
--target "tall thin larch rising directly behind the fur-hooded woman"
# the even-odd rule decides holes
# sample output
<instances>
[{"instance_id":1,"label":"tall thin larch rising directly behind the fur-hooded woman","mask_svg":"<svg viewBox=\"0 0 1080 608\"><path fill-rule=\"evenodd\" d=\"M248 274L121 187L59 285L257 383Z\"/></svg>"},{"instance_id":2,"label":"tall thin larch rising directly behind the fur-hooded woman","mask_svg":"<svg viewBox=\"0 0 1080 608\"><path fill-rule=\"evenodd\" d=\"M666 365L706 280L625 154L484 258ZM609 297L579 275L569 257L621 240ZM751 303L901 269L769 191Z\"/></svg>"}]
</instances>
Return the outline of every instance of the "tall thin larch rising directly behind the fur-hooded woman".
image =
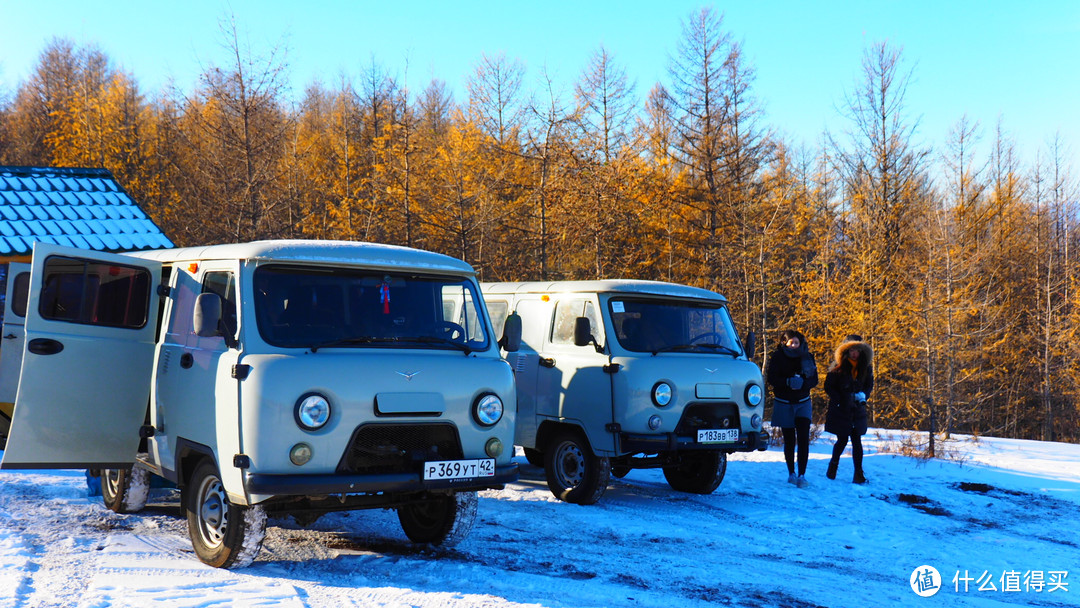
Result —
<instances>
[{"instance_id":1,"label":"tall thin larch rising directly behind the fur-hooded woman","mask_svg":"<svg viewBox=\"0 0 1080 608\"><path fill-rule=\"evenodd\" d=\"M907 367L918 361L907 335L917 310L905 296L917 293L912 266L922 259L916 226L929 201L929 150L915 143L918 121L905 105L910 72L902 71L901 55L885 42L864 52L861 79L846 102L848 139L833 141L843 183L848 288L854 291L848 332L863 335L877 351L875 371L887 396L874 416L885 419L924 405L915 396L921 390L917 375Z\"/></svg>"}]
</instances>

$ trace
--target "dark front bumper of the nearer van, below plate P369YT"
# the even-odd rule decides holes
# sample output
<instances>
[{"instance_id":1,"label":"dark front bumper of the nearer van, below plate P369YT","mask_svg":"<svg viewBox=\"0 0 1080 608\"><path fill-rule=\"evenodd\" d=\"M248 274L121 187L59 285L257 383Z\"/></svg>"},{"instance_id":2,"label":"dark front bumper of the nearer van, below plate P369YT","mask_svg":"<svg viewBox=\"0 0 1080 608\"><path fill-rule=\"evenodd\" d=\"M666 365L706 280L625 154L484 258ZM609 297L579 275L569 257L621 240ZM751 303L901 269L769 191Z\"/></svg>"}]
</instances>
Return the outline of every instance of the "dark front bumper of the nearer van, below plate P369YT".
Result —
<instances>
[{"instance_id":1,"label":"dark front bumper of the nearer van, below plate P369YT","mask_svg":"<svg viewBox=\"0 0 1080 608\"><path fill-rule=\"evenodd\" d=\"M495 468L491 477L424 481L416 473L381 475L264 475L247 477L247 491L268 496L315 496L348 494L389 494L453 489L477 491L501 489L517 481L517 464Z\"/></svg>"}]
</instances>

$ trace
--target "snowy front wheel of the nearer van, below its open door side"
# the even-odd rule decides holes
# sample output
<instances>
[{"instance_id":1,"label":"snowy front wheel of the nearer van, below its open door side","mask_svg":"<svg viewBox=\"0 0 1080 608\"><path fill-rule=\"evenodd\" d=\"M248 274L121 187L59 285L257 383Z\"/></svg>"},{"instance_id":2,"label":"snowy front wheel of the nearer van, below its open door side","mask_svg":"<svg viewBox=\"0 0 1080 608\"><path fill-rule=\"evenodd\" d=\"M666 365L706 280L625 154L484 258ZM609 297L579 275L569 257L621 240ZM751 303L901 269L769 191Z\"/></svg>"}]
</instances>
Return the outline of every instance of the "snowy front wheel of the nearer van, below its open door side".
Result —
<instances>
[{"instance_id":1,"label":"snowy front wheel of the nearer van, below its open door side","mask_svg":"<svg viewBox=\"0 0 1080 608\"><path fill-rule=\"evenodd\" d=\"M215 568L243 568L255 560L266 536L266 512L230 503L213 462L204 460L195 468L181 500L199 559Z\"/></svg>"}]
</instances>

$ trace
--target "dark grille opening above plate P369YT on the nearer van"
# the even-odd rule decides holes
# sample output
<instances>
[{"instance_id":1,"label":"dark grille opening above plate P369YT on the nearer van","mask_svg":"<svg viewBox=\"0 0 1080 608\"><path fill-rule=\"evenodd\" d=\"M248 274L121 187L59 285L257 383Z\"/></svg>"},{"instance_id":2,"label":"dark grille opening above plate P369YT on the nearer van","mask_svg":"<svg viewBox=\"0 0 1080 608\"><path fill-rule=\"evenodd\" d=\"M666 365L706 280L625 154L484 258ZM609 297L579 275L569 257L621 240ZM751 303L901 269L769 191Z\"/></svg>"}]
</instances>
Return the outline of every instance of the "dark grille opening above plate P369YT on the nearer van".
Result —
<instances>
[{"instance_id":1,"label":"dark grille opening above plate P369YT on the nearer van","mask_svg":"<svg viewBox=\"0 0 1080 608\"><path fill-rule=\"evenodd\" d=\"M454 424L362 424L352 433L338 473L417 473L429 460L462 458Z\"/></svg>"}]
</instances>

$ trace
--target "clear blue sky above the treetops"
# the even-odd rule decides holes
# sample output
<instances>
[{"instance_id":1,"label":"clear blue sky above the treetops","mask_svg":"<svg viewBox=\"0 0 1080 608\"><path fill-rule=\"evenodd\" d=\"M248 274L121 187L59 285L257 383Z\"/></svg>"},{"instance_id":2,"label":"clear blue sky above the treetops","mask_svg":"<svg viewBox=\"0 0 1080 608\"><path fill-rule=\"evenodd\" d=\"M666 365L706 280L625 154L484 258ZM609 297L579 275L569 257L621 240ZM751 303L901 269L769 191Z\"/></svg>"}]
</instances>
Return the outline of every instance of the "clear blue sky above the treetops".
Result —
<instances>
[{"instance_id":1,"label":"clear blue sky above the treetops","mask_svg":"<svg viewBox=\"0 0 1080 608\"><path fill-rule=\"evenodd\" d=\"M219 23L235 15L256 49L284 42L294 94L333 84L375 59L419 91L432 78L457 91L481 54L522 59L530 83L546 66L567 92L605 45L644 97L667 81L681 22L699 1L619 2L279 0L0 0L0 94L10 94L55 36L96 43L153 92L170 78L190 90L202 67L225 64ZM1080 2L717 1L725 25L757 71L766 122L793 143L841 131L839 108L864 49L888 40L914 70L907 108L918 136L939 145L964 113L988 150L1003 120L1026 159L1055 134L1080 158ZM459 100L462 95L459 93ZM1080 171L1080 166L1078 166Z\"/></svg>"}]
</instances>

